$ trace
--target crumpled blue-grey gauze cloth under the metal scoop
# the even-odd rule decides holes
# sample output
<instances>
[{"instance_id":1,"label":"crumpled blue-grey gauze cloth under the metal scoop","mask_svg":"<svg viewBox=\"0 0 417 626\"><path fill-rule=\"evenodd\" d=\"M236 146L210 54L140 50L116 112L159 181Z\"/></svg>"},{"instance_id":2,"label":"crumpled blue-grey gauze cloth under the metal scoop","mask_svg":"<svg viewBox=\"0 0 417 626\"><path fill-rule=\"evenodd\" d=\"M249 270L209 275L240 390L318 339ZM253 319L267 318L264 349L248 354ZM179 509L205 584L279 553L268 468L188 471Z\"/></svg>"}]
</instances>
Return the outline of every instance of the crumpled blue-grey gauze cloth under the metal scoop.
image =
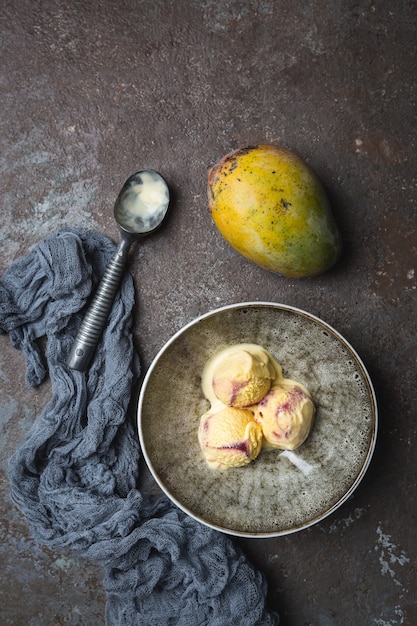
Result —
<instances>
[{"instance_id":1,"label":"crumpled blue-grey gauze cloth under the metal scoop","mask_svg":"<svg viewBox=\"0 0 417 626\"><path fill-rule=\"evenodd\" d=\"M13 501L36 541L103 566L110 626L277 624L265 608L263 575L231 538L137 487L139 442L126 419L139 374L130 275L89 371L66 365L82 309L114 249L97 233L63 229L2 278L0 329L25 354L27 384L39 385L49 372L52 385L10 459Z\"/></svg>"}]
</instances>

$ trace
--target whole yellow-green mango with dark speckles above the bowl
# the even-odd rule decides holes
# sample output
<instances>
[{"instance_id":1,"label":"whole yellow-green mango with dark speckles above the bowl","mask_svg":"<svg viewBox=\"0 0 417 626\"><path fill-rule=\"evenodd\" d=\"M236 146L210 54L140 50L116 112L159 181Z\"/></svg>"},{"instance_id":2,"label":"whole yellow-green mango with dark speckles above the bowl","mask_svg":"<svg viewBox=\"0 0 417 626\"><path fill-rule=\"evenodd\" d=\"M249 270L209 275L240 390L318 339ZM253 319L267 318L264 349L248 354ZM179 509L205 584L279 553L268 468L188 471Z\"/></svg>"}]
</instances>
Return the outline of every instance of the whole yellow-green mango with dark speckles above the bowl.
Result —
<instances>
[{"instance_id":1,"label":"whole yellow-green mango with dark speckles above the bowl","mask_svg":"<svg viewBox=\"0 0 417 626\"><path fill-rule=\"evenodd\" d=\"M289 278L330 269L342 239L326 192L308 165L286 148L238 148L208 171L215 225L244 257Z\"/></svg>"}]
</instances>

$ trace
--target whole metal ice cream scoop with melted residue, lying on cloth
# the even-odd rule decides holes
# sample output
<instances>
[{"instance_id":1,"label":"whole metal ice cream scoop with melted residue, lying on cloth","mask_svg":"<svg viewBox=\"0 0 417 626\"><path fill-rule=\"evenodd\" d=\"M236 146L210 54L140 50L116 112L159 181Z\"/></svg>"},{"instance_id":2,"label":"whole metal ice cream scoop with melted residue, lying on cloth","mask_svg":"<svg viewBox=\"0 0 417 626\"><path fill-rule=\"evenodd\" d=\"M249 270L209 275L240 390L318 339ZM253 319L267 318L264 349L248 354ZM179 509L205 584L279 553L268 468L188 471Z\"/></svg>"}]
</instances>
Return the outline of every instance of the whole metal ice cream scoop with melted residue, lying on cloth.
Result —
<instances>
[{"instance_id":1,"label":"whole metal ice cream scoop with melted residue, lying on cloth","mask_svg":"<svg viewBox=\"0 0 417 626\"><path fill-rule=\"evenodd\" d=\"M87 369L119 287L130 246L161 225L168 205L168 185L154 170L135 172L120 190L114 205L114 217L121 240L72 345L67 360L72 369Z\"/></svg>"}]
</instances>

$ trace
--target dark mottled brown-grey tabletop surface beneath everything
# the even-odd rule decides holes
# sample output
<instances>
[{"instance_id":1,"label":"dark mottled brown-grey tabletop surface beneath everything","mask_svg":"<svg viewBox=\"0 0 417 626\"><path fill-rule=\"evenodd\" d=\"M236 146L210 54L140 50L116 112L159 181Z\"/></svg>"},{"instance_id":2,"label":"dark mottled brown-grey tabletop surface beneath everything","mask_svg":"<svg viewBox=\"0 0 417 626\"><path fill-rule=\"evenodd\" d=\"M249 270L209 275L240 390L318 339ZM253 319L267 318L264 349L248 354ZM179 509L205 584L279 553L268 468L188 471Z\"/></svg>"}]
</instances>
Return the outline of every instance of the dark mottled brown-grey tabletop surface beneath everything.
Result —
<instances>
[{"instance_id":1,"label":"dark mottled brown-grey tabletop surface beneath everything","mask_svg":"<svg viewBox=\"0 0 417 626\"><path fill-rule=\"evenodd\" d=\"M131 262L143 371L196 315L271 300L334 326L375 384L353 497L301 533L239 541L271 606L284 626L415 625L416 0L3 0L0 17L1 272L60 226L117 239L120 186L159 170L172 212ZM324 182L345 243L331 272L279 277L215 230L207 167L258 142ZM101 571L36 546L10 502L7 459L50 388L27 390L22 355L0 348L0 621L101 624Z\"/></svg>"}]
</instances>

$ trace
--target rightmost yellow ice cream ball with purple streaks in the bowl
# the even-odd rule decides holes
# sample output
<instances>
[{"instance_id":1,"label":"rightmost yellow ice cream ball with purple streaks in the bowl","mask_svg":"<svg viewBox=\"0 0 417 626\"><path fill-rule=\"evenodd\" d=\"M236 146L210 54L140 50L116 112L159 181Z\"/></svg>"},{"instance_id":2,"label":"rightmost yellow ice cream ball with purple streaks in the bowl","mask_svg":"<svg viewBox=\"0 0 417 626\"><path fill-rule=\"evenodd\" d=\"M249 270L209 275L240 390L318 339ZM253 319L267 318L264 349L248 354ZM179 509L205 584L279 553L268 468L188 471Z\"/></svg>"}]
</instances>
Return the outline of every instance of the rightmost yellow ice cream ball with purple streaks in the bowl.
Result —
<instances>
[{"instance_id":1,"label":"rightmost yellow ice cream ball with purple streaks in the bowl","mask_svg":"<svg viewBox=\"0 0 417 626\"><path fill-rule=\"evenodd\" d=\"M315 413L307 389L289 379L273 385L254 409L267 445L281 450L295 450L304 443Z\"/></svg>"}]
</instances>

